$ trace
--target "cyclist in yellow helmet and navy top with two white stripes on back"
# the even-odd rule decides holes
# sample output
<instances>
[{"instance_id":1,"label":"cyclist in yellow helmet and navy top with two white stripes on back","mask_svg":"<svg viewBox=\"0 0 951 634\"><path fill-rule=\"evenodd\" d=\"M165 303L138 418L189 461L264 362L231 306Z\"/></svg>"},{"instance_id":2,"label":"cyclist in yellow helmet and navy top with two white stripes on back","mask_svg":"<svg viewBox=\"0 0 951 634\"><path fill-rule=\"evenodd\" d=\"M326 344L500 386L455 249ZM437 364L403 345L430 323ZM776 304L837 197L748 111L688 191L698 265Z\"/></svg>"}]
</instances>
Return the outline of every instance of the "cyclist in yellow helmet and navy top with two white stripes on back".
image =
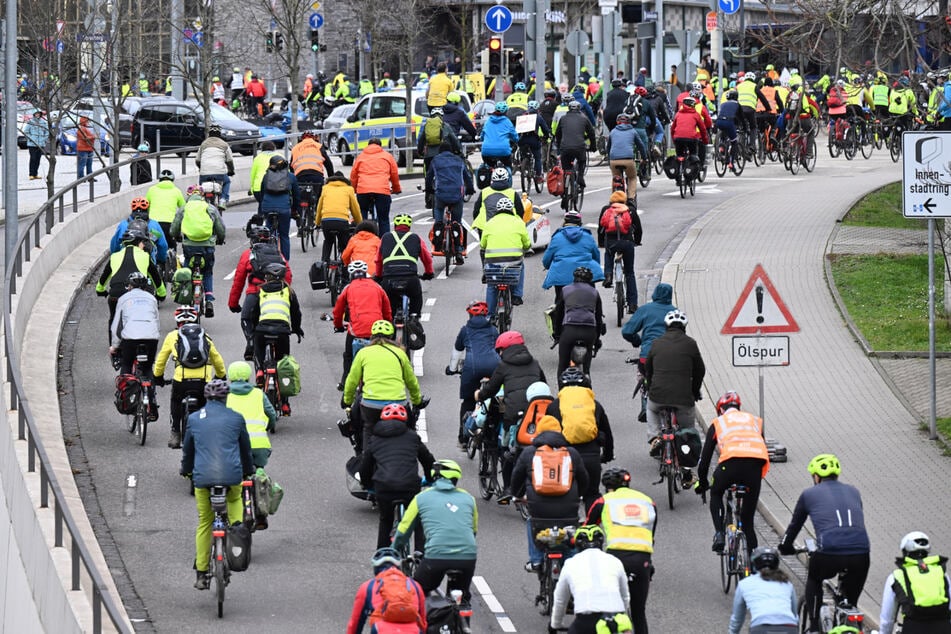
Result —
<instances>
[{"instance_id":1,"label":"cyclist in yellow helmet and navy top with two white stripes on back","mask_svg":"<svg viewBox=\"0 0 951 634\"><path fill-rule=\"evenodd\" d=\"M822 580L841 574L842 594L855 605L868 576L869 539L862 496L854 486L839 481L842 473L839 459L833 454L819 454L809 462L808 471L814 486L799 496L778 548L784 555L794 554L793 542L806 517L812 518L819 549L809 557L804 599L809 624L818 631Z\"/></svg>"}]
</instances>

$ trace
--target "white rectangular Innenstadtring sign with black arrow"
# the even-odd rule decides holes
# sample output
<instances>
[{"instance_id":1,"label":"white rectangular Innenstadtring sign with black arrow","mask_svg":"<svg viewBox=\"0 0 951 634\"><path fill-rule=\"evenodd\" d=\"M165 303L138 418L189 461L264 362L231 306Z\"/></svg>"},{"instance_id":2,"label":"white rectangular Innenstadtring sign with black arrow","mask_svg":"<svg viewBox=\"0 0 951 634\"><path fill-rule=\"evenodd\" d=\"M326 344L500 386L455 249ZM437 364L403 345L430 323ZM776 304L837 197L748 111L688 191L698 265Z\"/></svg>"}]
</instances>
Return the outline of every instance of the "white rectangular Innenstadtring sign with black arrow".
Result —
<instances>
[{"instance_id":1,"label":"white rectangular Innenstadtring sign with black arrow","mask_svg":"<svg viewBox=\"0 0 951 634\"><path fill-rule=\"evenodd\" d=\"M902 214L951 218L951 132L902 134Z\"/></svg>"}]
</instances>

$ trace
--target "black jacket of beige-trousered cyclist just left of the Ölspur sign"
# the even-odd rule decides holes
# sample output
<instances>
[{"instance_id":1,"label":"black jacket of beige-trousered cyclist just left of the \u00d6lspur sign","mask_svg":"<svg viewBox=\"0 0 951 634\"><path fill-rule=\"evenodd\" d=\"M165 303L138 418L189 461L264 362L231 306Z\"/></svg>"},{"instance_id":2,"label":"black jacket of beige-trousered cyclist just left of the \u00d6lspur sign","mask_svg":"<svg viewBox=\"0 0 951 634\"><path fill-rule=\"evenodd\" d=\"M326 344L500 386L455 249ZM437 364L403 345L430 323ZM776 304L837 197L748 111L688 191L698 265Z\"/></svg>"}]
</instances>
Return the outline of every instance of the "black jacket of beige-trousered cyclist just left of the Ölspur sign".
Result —
<instances>
[{"instance_id":1,"label":"black jacket of beige-trousered cyclist just left of the \u00d6lspur sign","mask_svg":"<svg viewBox=\"0 0 951 634\"><path fill-rule=\"evenodd\" d=\"M654 339L647 355L645 378L654 403L690 407L700 400L706 368L697 342L679 326Z\"/></svg>"}]
</instances>

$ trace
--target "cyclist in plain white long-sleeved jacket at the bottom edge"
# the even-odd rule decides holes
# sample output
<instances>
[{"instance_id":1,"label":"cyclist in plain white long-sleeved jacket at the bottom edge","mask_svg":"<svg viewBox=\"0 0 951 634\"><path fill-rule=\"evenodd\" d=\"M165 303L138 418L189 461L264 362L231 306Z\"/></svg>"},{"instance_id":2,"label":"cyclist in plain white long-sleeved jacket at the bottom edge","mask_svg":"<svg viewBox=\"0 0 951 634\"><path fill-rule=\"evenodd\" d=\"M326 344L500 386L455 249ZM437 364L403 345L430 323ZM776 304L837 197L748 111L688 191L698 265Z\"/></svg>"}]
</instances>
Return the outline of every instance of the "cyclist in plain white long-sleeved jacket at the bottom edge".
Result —
<instances>
[{"instance_id":1,"label":"cyclist in plain white long-sleeved jacket at the bottom edge","mask_svg":"<svg viewBox=\"0 0 951 634\"><path fill-rule=\"evenodd\" d=\"M600 526L578 527L572 542L578 554L562 566L555 586L550 628L562 627L568 600L573 598L575 620L568 628L569 634L596 634L602 618L628 612L631 595L627 574L617 557L601 550L604 531Z\"/></svg>"}]
</instances>

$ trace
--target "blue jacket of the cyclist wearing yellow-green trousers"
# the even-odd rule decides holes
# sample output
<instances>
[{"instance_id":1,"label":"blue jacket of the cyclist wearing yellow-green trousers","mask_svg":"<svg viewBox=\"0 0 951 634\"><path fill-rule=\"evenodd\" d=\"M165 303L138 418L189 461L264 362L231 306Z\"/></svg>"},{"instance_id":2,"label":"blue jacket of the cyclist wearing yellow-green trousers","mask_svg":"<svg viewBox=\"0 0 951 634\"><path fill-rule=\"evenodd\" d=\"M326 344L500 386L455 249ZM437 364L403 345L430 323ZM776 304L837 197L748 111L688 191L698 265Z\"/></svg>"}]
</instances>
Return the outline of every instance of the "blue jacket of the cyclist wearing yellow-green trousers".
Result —
<instances>
[{"instance_id":1,"label":"blue jacket of the cyclist wearing yellow-green trousers","mask_svg":"<svg viewBox=\"0 0 951 634\"><path fill-rule=\"evenodd\" d=\"M215 400L191 414L179 473L192 474L196 489L241 484L245 475L254 473L244 416Z\"/></svg>"}]
</instances>

